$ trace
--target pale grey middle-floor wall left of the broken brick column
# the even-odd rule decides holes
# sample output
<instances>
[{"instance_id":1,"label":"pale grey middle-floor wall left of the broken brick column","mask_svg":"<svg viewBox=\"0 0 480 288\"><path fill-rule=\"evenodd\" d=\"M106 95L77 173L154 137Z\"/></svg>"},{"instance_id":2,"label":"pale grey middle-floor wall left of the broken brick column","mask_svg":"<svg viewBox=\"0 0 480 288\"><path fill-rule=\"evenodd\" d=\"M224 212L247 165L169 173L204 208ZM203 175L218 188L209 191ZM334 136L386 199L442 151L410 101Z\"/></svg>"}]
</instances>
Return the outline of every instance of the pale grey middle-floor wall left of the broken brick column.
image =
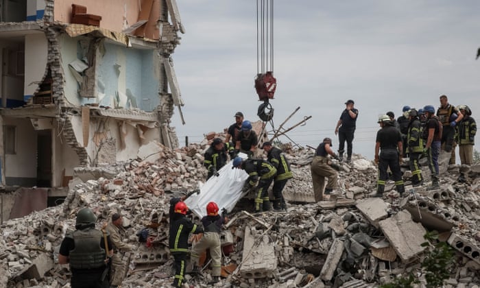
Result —
<instances>
[{"instance_id":1,"label":"pale grey middle-floor wall left of the broken brick column","mask_svg":"<svg viewBox=\"0 0 480 288\"><path fill-rule=\"evenodd\" d=\"M24 97L32 97L47 68L48 43L45 34L25 35Z\"/></svg>"}]
</instances>

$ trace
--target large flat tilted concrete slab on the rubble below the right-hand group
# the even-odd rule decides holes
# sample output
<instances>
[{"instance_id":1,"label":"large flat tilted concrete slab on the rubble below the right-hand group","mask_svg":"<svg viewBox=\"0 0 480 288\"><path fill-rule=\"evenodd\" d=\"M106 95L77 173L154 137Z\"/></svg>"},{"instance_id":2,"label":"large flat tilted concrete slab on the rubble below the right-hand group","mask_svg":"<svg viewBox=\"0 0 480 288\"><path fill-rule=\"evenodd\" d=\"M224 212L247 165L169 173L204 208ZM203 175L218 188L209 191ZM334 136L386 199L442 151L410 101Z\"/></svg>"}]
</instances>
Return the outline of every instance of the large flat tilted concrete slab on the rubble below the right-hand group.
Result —
<instances>
[{"instance_id":1,"label":"large flat tilted concrete slab on the rubble below the right-hand group","mask_svg":"<svg viewBox=\"0 0 480 288\"><path fill-rule=\"evenodd\" d=\"M408 211L400 211L393 217L379 221L379 226L403 262L411 261L425 249L422 243L427 231L421 224L413 222Z\"/></svg>"}]
</instances>

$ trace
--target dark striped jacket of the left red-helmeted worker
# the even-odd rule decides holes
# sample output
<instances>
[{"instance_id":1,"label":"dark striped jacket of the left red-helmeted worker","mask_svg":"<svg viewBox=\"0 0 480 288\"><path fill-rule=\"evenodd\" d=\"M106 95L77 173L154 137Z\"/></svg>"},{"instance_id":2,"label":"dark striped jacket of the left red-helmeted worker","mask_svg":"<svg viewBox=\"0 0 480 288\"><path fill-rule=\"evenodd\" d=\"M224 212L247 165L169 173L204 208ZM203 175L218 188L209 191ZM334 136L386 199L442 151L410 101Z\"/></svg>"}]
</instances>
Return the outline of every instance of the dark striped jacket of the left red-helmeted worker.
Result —
<instances>
[{"instance_id":1,"label":"dark striped jacket of the left red-helmeted worker","mask_svg":"<svg viewBox=\"0 0 480 288\"><path fill-rule=\"evenodd\" d=\"M204 230L196 224L193 224L190 219L181 213L173 213L173 215L170 216L170 220L170 252L188 252L190 233L198 234L204 232Z\"/></svg>"}]
</instances>

